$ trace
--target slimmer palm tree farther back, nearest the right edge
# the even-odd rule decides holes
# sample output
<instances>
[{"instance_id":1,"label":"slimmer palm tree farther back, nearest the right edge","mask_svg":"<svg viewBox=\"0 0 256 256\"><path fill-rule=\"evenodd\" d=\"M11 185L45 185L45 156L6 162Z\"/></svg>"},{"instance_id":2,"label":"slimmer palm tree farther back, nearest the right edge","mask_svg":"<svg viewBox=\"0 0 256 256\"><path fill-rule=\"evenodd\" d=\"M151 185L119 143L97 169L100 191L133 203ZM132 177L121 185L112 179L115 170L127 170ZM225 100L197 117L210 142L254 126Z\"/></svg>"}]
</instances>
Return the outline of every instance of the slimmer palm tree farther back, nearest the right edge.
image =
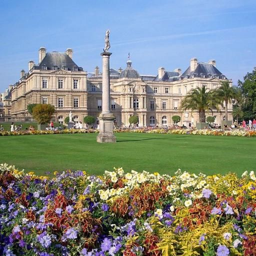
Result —
<instances>
[{"instance_id":1,"label":"slimmer palm tree farther back, nearest the right edge","mask_svg":"<svg viewBox=\"0 0 256 256\"><path fill-rule=\"evenodd\" d=\"M235 91L232 86L230 86L229 81L222 81L220 87L218 87L216 90L217 97L223 102L225 102L225 120L228 120L227 118L227 104L231 102L233 98L235 98Z\"/></svg>"}]
</instances>

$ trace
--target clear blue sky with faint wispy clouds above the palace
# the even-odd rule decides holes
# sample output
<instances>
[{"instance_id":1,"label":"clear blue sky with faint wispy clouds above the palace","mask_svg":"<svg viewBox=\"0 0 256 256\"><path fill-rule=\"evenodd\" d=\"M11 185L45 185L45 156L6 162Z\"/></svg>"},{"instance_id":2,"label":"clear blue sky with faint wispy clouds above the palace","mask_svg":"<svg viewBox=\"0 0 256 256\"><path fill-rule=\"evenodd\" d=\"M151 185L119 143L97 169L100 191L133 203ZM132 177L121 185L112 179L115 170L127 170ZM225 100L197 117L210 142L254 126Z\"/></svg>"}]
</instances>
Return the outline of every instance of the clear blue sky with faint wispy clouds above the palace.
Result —
<instances>
[{"instance_id":1,"label":"clear blue sky with faint wispy clouds above the palace","mask_svg":"<svg viewBox=\"0 0 256 256\"><path fill-rule=\"evenodd\" d=\"M125 68L128 52L140 74L159 66L184 71L191 57L233 80L256 66L255 0L1 0L0 91L19 79L38 49L73 49L84 70L101 69L110 29L110 66Z\"/></svg>"}]
</instances>

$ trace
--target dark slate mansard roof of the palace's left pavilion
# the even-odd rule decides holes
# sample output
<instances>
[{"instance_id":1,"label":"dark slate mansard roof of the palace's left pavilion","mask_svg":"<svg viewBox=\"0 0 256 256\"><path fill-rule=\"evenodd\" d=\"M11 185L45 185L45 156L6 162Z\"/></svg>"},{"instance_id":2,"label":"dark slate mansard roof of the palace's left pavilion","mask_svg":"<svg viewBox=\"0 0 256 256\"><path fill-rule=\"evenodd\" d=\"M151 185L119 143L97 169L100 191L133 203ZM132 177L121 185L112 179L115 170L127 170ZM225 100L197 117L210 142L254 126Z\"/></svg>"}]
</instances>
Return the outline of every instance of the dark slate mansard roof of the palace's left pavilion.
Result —
<instances>
[{"instance_id":1,"label":"dark slate mansard roof of the palace's left pavilion","mask_svg":"<svg viewBox=\"0 0 256 256\"><path fill-rule=\"evenodd\" d=\"M43 66L47 66L48 70L51 70L53 66L57 66L58 69L67 67L67 70L73 70L75 67L78 71L83 70L65 52L57 51L47 52L42 61L38 65L34 65L34 69L42 69Z\"/></svg>"}]
</instances>

